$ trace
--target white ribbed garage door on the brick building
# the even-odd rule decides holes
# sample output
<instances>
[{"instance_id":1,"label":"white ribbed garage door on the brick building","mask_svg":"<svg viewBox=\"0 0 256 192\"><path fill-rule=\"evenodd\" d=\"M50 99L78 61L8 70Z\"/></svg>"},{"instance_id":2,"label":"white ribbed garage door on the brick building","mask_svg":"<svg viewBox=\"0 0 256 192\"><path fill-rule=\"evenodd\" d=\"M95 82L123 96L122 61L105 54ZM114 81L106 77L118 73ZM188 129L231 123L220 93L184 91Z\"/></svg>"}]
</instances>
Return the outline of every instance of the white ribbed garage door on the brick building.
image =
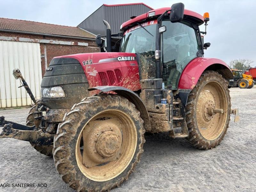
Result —
<instances>
[{"instance_id":1,"label":"white ribbed garage door on the brick building","mask_svg":"<svg viewBox=\"0 0 256 192\"><path fill-rule=\"evenodd\" d=\"M28 106L33 103L21 83L12 75L19 68L36 100L40 99L42 80L40 44L0 41L0 108Z\"/></svg>"}]
</instances>

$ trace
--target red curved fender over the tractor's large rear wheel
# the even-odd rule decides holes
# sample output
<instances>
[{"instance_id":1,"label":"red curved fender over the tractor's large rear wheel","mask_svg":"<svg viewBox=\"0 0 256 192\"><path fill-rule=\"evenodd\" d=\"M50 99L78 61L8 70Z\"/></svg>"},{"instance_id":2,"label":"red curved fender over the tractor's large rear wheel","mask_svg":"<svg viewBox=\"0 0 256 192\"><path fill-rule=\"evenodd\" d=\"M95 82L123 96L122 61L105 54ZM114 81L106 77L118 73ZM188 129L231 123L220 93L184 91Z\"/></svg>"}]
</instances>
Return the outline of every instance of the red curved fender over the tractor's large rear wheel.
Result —
<instances>
[{"instance_id":1,"label":"red curved fender over the tractor's large rear wheel","mask_svg":"<svg viewBox=\"0 0 256 192\"><path fill-rule=\"evenodd\" d=\"M215 58L196 57L184 68L180 76L178 89L192 90L205 70L217 71L226 79L233 78L231 70L224 61Z\"/></svg>"}]
</instances>

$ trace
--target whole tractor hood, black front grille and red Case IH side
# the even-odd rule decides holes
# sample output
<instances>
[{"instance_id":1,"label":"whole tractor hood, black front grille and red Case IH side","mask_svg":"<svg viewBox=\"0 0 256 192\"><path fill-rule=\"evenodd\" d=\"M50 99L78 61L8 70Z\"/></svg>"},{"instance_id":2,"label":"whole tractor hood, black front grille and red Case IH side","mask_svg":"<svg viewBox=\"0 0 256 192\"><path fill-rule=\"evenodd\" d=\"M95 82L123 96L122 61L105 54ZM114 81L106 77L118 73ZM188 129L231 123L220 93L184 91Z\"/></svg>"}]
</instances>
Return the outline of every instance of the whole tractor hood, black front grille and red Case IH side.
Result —
<instances>
[{"instance_id":1,"label":"whole tractor hood, black front grille and red Case IH side","mask_svg":"<svg viewBox=\"0 0 256 192\"><path fill-rule=\"evenodd\" d=\"M98 93L89 92L89 88L108 85L132 91L141 89L136 54L97 52L53 58L42 79L42 102L49 108L71 108L74 103ZM45 89L57 86L63 89L65 97L44 97Z\"/></svg>"}]
</instances>

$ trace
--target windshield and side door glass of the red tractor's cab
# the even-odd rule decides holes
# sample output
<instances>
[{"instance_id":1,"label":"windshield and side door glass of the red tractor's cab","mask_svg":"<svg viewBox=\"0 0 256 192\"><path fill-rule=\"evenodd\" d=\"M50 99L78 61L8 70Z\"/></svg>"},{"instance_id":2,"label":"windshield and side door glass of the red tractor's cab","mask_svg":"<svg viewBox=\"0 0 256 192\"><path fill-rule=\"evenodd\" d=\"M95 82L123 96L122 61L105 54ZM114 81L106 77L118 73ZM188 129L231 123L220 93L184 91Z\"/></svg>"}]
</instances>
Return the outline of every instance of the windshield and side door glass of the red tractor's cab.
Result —
<instances>
[{"instance_id":1,"label":"windshield and side door glass of the red tractor's cab","mask_svg":"<svg viewBox=\"0 0 256 192\"><path fill-rule=\"evenodd\" d=\"M139 24L145 27L142 28ZM146 65L151 67L151 69L147 68L147 70L152 71L148 78L155 78L155 51L157 50L156 44L159 44L161 51L159 61L163 83L165 87L172 85L172 89L177 89L182 70L191 60L202 56L200 53L202 44L198 28L193 28L195 23L189 20L172 23L168 16L161 20L160 32L157 19L139 24L124 31L120 52L137 53L140 60L143 58L147 61Z\"/></svg>"}]
</instances>

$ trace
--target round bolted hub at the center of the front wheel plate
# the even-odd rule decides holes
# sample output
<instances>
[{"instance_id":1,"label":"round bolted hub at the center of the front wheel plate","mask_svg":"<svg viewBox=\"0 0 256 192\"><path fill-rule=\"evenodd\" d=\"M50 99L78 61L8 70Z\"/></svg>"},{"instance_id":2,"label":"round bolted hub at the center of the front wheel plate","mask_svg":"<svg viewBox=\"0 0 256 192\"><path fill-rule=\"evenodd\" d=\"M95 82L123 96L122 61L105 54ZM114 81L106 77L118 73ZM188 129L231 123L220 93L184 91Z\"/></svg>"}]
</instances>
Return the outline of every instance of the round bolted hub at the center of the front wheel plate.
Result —
<instances>
[{"instance_id":1,"label":"round bolted hub at the center of the front wheel plate","mask_svg":"<svg viewBox=\"0 0 256 192\"><path fill-rule=\"evenodd\" d=\"M97 152L104 157L113 156L120 147L121 143L118 140L118 135L113 131L101 133L96 142Z\"/></svg>"}]
</instances>

